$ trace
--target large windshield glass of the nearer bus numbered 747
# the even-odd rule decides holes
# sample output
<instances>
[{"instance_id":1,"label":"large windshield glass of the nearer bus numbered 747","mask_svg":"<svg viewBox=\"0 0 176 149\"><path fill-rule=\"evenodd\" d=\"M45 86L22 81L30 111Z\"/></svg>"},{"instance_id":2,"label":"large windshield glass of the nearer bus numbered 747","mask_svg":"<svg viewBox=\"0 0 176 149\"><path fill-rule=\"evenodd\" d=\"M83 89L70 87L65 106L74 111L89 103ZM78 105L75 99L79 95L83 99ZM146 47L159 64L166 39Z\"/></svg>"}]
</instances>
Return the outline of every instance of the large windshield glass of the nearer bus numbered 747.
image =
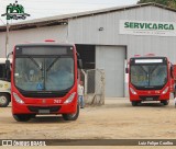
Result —
<instances>
[{"instance_id":1,"label":"large windshield glass of the nearer bus numbered 747","mask_svg":"<svg viewBox=\"0 0 176 149\"><path fill-rule=\"evenodd\" d=\"M63 91L74 84L73 47L16 47L15 87L23 91Z\"/></svg>"}]
</instances>

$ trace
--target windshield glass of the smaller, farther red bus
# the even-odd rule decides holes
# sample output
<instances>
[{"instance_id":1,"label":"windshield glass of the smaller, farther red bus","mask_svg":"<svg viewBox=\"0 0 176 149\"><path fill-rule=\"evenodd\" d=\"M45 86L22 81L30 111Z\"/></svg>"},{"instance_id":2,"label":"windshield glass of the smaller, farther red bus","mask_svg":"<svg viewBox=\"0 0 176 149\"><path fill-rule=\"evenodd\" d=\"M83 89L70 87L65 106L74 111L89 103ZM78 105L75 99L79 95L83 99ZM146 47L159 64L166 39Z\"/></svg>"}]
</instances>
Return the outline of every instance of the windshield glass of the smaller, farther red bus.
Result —
<instances>
[{"instance_id":1,"label":"windshield glass of the smaller, farther red bus","mask_svg":"<svg viewBox=\"0 0 176 149\"><path fill-rule=\"evenodd\" d=\"M130 80L139 90L162 89L167 82L167 65L163 62L131 65Z\"/></svg>"}]
</instances>

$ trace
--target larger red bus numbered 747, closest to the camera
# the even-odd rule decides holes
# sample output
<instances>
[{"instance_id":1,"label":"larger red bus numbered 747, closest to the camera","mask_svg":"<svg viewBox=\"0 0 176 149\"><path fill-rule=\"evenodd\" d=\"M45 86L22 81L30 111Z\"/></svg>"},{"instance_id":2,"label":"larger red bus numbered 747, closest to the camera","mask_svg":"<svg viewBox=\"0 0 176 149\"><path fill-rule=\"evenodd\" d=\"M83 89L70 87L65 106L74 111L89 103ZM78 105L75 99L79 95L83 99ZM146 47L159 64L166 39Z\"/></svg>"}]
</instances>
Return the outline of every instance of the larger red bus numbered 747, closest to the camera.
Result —
<instances>
[{"instance_id":1,"label":"larger red bus numbered 747, closest to the camera","mask_svg":"<svg viewBox=\"0 0 176 149\"><path fill-rule=\"evenodd\" d=\"M9 61L7 60L9 68ZM79 115L78 67L75 45L52 41L15 45L11 72L12 115L26 122L35 115Z\"/></svg>"}]
</instances>

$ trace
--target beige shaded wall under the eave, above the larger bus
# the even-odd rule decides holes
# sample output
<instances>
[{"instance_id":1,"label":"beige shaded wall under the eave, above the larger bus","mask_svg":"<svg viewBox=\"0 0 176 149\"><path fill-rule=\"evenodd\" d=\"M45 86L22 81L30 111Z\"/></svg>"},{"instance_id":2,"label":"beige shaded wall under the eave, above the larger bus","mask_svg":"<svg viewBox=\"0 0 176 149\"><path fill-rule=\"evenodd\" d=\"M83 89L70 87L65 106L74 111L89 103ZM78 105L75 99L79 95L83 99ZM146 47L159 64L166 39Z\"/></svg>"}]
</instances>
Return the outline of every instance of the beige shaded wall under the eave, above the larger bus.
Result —
<instances>
[{"instance_id":1,"label":"beige shaded wall under the eave, above the larger bus","mask_svg":"<svg viewBox=\"0 0 176 149\"><path fill-rule=\"evenodd\" d=\"M55 39L65 42L67 39L67 25L47 26L31 30L11 31L9 34L9 50L13 50L13 46L25 42L44 42L45 39ZM6 33L0 33L0 57L6 56Z\"/></svg>"}]
</instances>

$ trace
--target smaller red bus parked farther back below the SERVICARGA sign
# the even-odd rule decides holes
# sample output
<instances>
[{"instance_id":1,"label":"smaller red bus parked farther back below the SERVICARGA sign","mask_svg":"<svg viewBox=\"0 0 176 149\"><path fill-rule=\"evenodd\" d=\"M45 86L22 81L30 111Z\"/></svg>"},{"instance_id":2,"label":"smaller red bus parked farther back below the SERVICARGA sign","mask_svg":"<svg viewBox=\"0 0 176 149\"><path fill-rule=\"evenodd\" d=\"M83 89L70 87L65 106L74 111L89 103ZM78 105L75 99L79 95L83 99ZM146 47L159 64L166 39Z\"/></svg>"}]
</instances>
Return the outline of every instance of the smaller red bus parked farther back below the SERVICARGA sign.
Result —
<instances>
[{"instance_id":1,"label":"smaller red bus parked farther back below the SERVICARGA sign","mask_svg":"<svg viewBox=\"0 0 176 149\"><path fill-rule=\"evenodd\" d=\"M133 106L145 101L168 104L170 62L166 57L138 56L129 61L129 95Z\"/></svg>"}]
</instances>

